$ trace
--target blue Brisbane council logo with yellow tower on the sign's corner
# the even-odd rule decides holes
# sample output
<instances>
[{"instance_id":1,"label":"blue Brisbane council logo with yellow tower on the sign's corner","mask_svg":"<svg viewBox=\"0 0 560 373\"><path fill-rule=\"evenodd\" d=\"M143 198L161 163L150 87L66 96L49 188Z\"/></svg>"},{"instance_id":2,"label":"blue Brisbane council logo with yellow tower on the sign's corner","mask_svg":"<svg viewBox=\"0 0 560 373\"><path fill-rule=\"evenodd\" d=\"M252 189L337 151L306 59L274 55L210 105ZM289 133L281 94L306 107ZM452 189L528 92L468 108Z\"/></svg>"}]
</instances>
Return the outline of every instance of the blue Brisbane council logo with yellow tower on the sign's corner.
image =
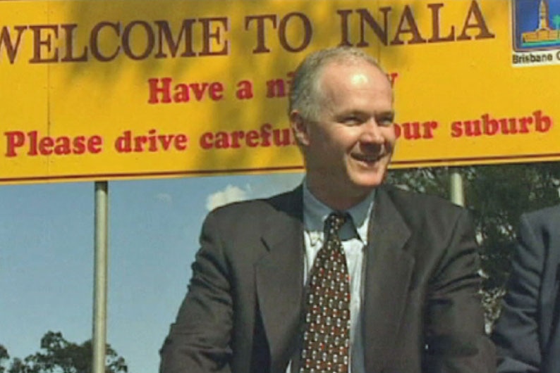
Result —
<instances>
[{"instance_id":1,"label":"blue Brisbane council logo with yellow tower on the sign's corner","mask_svg":"<svg viewBox=\"0 0 560 373\"><path fill-rule=\"evenodd\" d=\"M513 65L560 64L560 0L513 1Z\"/></svg>"}]
</instances>

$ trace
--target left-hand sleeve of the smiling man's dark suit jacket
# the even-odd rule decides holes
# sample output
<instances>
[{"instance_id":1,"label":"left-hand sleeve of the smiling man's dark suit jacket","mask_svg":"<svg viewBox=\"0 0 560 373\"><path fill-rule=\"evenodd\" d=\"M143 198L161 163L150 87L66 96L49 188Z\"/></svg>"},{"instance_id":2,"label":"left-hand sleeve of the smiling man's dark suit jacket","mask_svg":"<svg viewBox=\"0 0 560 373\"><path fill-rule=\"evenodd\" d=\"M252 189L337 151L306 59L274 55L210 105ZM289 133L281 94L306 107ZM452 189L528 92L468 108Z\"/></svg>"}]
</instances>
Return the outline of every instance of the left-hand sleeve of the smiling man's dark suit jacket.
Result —
<instances>
[{"instance_id":1,"label":"left-hand sleeve of the smiling man's dark suit jacket","mask_svg":"<svg viewBox=\"0 0 560 373\"><path fill-rule=\"evenodd\" d=\"M219 225L210 213L188 293L160 350L160 373L231 372L231 281Z\"/></svg>"}]
</instances>

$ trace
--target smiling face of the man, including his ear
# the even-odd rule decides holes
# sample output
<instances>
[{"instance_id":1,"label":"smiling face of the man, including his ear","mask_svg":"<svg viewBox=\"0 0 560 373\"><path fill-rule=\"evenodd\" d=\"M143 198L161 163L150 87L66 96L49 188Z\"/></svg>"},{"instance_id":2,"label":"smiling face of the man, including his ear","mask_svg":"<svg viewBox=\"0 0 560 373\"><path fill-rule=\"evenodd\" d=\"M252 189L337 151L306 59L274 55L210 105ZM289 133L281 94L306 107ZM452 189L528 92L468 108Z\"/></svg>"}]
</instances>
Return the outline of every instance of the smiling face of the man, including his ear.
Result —
<instances>
[{"instance_id":1,"label":"smiling face of the man, including his ear","mask_svg":"<svg viewBox=\"0 0 560 373\"><path fill-rule=\"evenodd\" d=\"M315 91L317 118L293 110L292 127L312 193L347 209L384 180L396 141L391 84L366 61L332 61Z\"/></svg>"}]
</instances>

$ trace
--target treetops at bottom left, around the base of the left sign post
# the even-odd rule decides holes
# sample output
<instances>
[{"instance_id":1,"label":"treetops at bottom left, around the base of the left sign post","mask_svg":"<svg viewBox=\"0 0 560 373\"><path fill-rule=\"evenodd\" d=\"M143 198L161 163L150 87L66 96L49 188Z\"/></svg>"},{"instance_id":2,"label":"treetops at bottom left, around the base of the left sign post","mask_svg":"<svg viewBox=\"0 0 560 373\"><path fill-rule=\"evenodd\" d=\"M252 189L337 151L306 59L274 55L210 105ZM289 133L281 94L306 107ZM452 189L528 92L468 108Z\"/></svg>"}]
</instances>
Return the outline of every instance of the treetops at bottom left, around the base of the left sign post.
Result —
<instances>
[{"instance_id":1,"label":"treetops at bottom left, around the base of the left sign post","mask_svg":"<svg viewBox=\"0 0 560 373\"><path fill-rule=\"evenodd\" d=\"M7 373L91 373L92 342L68 342L60 332L48 331L41 339L41 350L23 360L13 359ZM106 373L126 373L124 358L106 345Z\"/></svg>"}]
</instances>

